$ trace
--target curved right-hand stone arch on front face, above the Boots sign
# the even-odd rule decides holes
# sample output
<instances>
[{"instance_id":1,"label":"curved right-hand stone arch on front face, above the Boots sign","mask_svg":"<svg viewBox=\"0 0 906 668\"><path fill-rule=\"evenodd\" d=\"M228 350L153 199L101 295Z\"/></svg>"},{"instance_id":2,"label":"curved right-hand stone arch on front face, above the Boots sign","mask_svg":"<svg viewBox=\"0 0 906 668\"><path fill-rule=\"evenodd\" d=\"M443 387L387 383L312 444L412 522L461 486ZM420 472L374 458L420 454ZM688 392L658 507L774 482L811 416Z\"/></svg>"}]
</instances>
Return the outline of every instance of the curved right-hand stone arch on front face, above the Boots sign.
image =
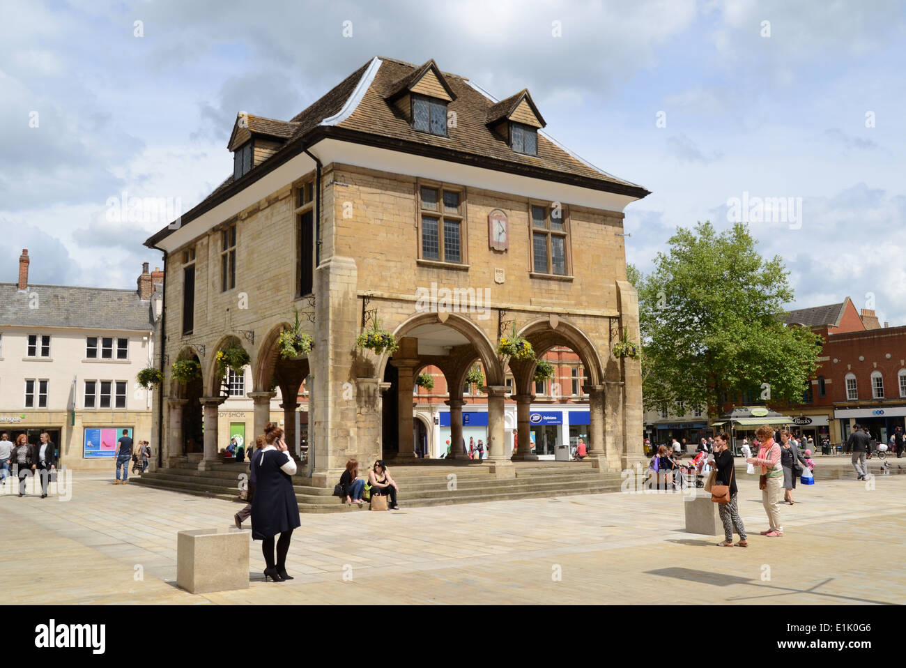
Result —
<instances>
[{"instance_id":1,"label":"curved right-hand stone arch on front face, above the Boots sign","mask_svg":"<svg viewBox=\"0 0 906 668\"><path fill-rule=\"evenodd\" d=\"M535 349L535 357L541 358L556 345L565 345L579 355L585 369L585 378L589 384L599 385L604 380L604 367L592 340L576 324L569 320L559 319L556 327L551 325L550 318L535 318L520 329L517 334L525 337ZM516 387L521 394L532 393L532 377L536 363L510 363L516 377Z\"/></svg>"}]
</instances>

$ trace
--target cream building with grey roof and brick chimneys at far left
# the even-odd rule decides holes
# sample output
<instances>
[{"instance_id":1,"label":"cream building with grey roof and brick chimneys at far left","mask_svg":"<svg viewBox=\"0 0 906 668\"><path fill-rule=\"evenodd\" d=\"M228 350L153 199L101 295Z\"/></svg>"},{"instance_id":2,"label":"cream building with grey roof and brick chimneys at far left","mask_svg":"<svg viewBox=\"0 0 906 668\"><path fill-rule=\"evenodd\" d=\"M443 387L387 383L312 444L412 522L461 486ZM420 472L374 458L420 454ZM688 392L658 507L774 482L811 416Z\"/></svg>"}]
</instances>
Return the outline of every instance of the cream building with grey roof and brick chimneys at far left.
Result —
<instances>
[{"instance_id":1,"label":"cream building with grey roof and brick chimneys at far left","mask_svg":"<svg viewBox=\"0 0 906 668\"><path fill-rule=\"evenodd\" d=\"M133 289L0 283L0 431L36 445L47 431L61 466L106 469L124 429L150 440L154 392L136 382L152 361L160 272ZM40 261L40 256L38 260Z\"/></svg>"}]
</instances>

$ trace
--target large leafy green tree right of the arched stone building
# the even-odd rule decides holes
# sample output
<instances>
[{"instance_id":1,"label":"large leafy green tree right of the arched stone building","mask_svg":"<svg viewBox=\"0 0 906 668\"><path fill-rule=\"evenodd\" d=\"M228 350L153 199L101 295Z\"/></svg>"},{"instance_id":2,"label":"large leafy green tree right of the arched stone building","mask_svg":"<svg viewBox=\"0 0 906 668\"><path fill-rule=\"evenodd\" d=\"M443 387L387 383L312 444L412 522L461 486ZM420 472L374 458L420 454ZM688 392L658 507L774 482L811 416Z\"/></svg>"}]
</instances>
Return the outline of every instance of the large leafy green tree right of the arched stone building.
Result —
<instances>
[{"instance_id":1,"label":"large leafy green tree right of the arched stone building","mask_svg":"<svg viewBox=\"0 0 906 668\"><path fill-rule=\"evenodd\" d=\"M707 406L751 393L768 403L800 402L817 368L821 337L784 324L793 300L779 257L758 255L738 223L677 228L639 291L642 392L646 409L664 402Z\"/></svg>"}]
</instances>

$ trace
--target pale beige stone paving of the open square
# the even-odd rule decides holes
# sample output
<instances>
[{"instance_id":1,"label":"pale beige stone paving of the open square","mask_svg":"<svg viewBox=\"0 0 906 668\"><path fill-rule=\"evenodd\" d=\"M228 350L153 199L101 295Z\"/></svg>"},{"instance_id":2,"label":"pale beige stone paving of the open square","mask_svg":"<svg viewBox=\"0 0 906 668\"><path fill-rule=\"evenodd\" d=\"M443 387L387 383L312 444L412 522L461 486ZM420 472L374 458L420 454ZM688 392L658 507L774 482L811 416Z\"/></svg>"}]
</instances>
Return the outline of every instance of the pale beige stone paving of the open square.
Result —
<instances>
[{"instance_id":1,"label":"pale beige stone paving of the open square","mask_svg":"<svg viewBox=\"0 0 906 668\"><path fill-rule=\"evenodd\" d=\"M260 542L249 540L249 589L205 595L175 586L176 532L231 526L235 503L78 474L72 483L63 502L0 494L0 559L54 573L42 588L0 570L7 603L906 603L901 475L874 489L853 479L796 489L780 538L757 535L757 479L740 476L746 549L687 534L679 494L305 515L287 559L293 581L265 583Z\"/></svg>"}]
</instances>

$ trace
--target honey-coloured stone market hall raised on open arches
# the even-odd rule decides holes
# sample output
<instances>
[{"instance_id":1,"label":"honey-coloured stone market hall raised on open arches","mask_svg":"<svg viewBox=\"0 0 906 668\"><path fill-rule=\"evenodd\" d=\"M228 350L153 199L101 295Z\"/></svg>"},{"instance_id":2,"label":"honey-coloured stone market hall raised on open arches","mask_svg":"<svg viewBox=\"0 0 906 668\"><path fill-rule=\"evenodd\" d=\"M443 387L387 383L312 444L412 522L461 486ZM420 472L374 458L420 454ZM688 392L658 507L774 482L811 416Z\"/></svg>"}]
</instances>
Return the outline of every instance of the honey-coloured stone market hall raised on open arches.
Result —
<instances>
[{"instance_id":1,"label":"honey-coloured stone market hall raised on open arches","mask_svg":"<svg viewBox=\"0 0 906 668\"><path fill-rule=\"evenodd\" d=\"M452 440L461 440L461 388L480 361L487 395L488 470L513 475L505 405L519 447L530 438L535 360L497 353L516 333L538 355L565 346L581 359L590 453L604 470L642 458L641 376L616 358L625 329L638 341L626 281L622 210L648 195L573 155L542 129L528 91L492 99L433 61L375 57L289 121L239 114L234 172L146 241L165 254L160 435L167 462L184 460L189 426L217 460L224 401L217 353L243 348L255 433L280 392L291 442L306 377L304 474L333 485L346 460L413 458L413 386L433 365L451 388ZM284 357L279 337L299 314L307 355ZM375 324L392 355L357 348ZM170 369L198 362L181 384ZM506 375L513 377L506 385ZM452 456L463 457L460 447Z\"/></svg>"}]
</instances>

